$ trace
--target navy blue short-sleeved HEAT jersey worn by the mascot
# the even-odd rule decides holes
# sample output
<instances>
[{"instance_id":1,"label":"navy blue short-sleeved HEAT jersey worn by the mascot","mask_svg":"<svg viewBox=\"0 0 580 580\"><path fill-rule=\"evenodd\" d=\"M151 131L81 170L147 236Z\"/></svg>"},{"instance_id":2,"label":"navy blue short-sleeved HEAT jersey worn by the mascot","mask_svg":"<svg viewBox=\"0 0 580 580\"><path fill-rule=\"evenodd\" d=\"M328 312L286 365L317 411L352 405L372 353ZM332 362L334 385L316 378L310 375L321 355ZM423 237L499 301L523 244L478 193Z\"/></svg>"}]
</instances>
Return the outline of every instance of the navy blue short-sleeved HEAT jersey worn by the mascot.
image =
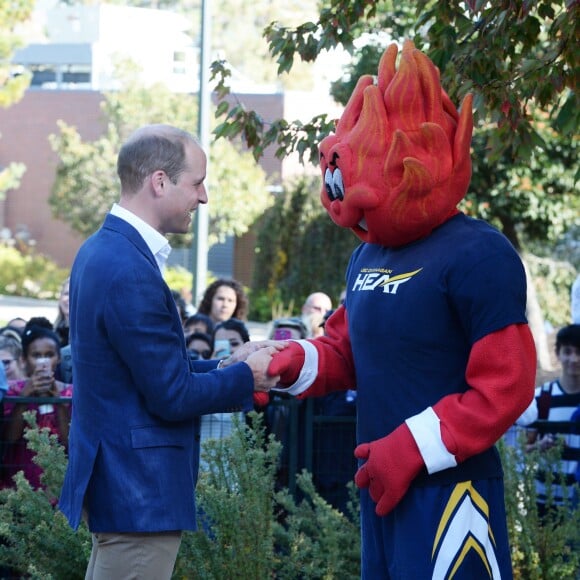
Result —
<instances>
[{"instance_id":1,"label":"navy blue short-sleeved HEAT jersey worn by the mascot","mask_svg":"<svg viewBox=\"0 0 580 580\"><path fill-rule=\"evenodd\" d=\"M358 416L364 418L358 442L384 437L445 395L467 390L472 345L525 323L525 296L513 246L463 214L406 246L359 246L347 269L346 298ZM450 483L499 473L490 450L428 479Z\"/></svg>"}]
</instances>

